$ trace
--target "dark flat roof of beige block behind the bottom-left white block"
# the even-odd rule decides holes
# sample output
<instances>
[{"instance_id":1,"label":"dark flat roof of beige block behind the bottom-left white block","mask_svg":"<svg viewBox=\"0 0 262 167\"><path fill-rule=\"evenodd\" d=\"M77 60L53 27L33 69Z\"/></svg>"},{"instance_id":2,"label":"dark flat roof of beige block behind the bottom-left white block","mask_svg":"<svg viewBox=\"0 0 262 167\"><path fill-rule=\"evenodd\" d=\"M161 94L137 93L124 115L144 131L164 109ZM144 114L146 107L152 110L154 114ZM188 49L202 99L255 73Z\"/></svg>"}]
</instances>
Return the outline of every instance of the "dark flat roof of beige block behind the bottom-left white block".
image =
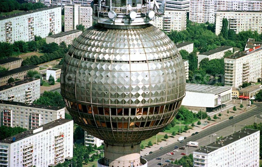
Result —
<instances>
[{"instance_id":1,"label":"dark flat roof of beige block behind the bottom-left white block","mask_svg":"<svg viewBox=\"0 0 262 167\"><path fill-rule=\"evenodd\" d=\"M14 105L14 106L23 106L23 107L34 107L34 108L41 108L41 109L46 109L46 110L60 110L64 107L55 107L55 106L46 106L46 105L40 105L40 104L30 104L27 105L22 102L16 102L16 101L8 101L8 100L0 100L1 104L7 104L7 105Z\"/></svg>"}]
</instances>

